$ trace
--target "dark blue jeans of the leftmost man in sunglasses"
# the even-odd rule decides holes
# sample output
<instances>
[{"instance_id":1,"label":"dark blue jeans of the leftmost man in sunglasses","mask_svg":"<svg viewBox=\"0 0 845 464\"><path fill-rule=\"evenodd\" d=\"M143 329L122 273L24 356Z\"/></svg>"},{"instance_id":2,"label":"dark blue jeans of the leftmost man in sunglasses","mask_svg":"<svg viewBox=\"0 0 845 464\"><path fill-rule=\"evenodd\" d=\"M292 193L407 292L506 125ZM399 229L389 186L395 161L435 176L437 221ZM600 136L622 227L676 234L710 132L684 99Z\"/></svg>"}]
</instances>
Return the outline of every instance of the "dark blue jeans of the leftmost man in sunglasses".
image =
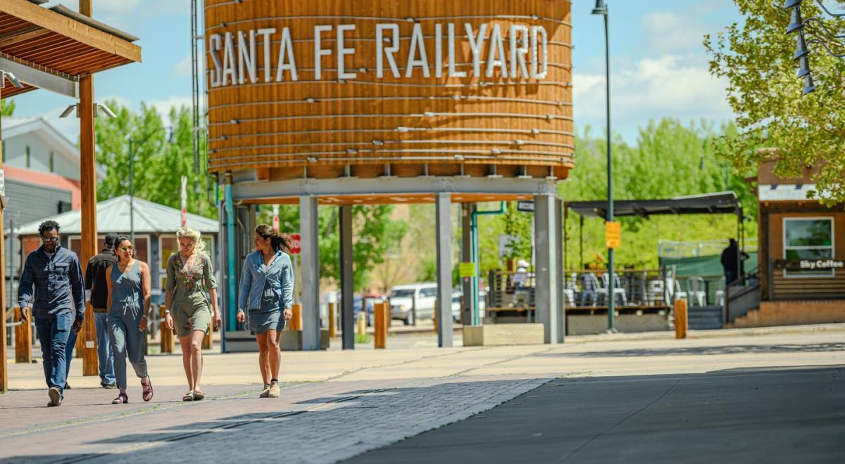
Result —
<instances>
[{"instance_id":1,"label":"dark blue jeans of the leftmost man in sunglasses","mask_svg":"<svg viewBox=\"0 0 845 464\"><path fill-rule=\"evenodd\" d=\"M48 388L57 387L63 397L64 383L68 379L65 348L68 345L68 336L73 332L71 330L73 323L74 315L71 311L44 319L35 318L35 331L38 332L38 339L41 341L44 380Z\"/></svg>"}]
</instances>

